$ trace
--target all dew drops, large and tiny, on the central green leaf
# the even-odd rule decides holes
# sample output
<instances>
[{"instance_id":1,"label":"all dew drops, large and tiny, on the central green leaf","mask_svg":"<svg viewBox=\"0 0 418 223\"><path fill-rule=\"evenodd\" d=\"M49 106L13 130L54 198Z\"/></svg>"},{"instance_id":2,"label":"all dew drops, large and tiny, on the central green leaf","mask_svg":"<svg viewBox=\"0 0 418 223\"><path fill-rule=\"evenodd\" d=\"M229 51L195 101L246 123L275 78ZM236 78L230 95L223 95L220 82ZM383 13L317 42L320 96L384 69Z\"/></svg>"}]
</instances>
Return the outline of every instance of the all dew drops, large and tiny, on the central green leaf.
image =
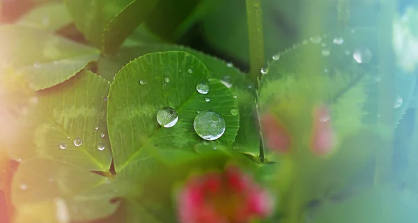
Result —
<instances>
[{"instance_id":1,"label":"all dew drops, large and tiny, on the central green leaf","mask_svg":"<svg viewBox=\"0 0 418 223\"><path fill-rule=\"evenodd\" d=\"M192 68L188 69L187 72L192 73ZM168 83L169 78L165 78L164 82ZM140 81L140 84L144 85L146 82ZM228 84L225 84L230 87ZM207 95L209 92L209 85L206 82L200 82L196 84L196 91L202 95ZM233 98L237 98L233 95ZM210 102L210 98L204 98L205 102ZM237 116L238 109L231 109L231 115ZM172 128L178 123L178 114L175 109L171 107L163 107L157 112L156 119L157 123L164 128ZM196 134L202 139L212 141L222 137L226 130L226 123L224 117L217 114L216 112L202 111L197 112L196 117L193 121L193 128Z\"/></svg>"}]
</instances>

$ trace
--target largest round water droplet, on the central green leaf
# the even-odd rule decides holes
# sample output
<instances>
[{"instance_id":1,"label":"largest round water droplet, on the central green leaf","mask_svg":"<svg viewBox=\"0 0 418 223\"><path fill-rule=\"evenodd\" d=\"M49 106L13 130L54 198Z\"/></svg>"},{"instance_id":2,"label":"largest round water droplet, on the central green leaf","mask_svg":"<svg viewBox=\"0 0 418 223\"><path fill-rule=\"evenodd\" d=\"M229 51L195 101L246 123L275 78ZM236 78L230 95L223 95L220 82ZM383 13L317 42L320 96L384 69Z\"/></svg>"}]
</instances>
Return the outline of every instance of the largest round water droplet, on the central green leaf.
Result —
<instances>
[{"instance_id":1,"label":"largest round water droplet, on the central green leaf","mask_svg":"<svg viewBox=\"0 0 418 223\"><path fill-rule=\"evenodd\" d=\"M215 112L201 112L197 114L193 122L194 131L206 140L216 140L225 132L225 120Z\"/></svg>"}]
</instances>

